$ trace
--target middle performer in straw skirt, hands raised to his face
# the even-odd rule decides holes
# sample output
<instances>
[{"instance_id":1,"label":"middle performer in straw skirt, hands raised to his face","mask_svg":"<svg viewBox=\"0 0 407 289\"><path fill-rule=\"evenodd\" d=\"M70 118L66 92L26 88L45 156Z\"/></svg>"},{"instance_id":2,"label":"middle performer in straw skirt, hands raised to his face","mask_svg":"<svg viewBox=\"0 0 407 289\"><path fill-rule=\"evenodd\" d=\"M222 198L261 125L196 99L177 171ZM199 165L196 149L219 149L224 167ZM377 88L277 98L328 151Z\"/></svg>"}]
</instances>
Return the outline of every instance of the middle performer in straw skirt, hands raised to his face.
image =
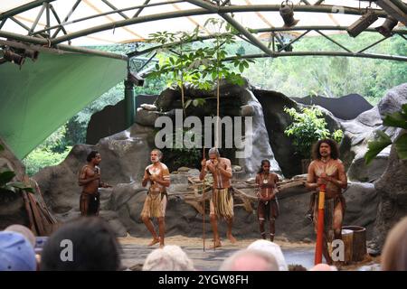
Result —
<instances>
[{"instance_id":1,"label":"middle performer in straw skirt, hands raised to his face","mask_svg":"<svg viewBox=\"0 0 407 289\"><path fill-rule=\"evenodd\" d=\"M207 171L213 175L213 194L210 200L209 218L213 228L213 247L221 247L221 239L218 233L217 219L222 217L227 222L226 237L232 243L236 239L232 236L233 223L233 195L232 195L232 166L231 161L221 157L218 149L211 148L209 150L209 160L202 160L201 173L199 179L204 180Z\"/></svg>"}]
</instances>

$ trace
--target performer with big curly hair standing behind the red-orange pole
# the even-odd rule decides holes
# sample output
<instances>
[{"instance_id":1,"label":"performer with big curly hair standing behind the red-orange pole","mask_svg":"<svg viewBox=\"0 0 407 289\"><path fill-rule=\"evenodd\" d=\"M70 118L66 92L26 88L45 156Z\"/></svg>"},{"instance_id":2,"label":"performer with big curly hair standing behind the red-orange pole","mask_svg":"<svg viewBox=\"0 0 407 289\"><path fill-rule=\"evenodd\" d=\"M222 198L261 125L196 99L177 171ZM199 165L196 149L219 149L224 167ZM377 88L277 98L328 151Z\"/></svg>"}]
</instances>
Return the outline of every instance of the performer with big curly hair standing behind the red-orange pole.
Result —
<instances>
[{"instance_id":1,"label":"performer with big curly hair standing behind the red-orange pole","mask_svg":"<svg viewBox=\"0 0 407 289\"><path fill-rule=\"evenodd\" d=\"M322 253L327 264L332 264L328 254L327 241L342 238L342 221L345 215L345 198L342 190L347 187L344 164L339 160L337 144L332 139L323 139L314 145L314 161L308 166L306 187L316 191L321 184L326 184L324 236ZM314 204L314 225L317 232L318 197Z\"/></svg>"}]
</instances>

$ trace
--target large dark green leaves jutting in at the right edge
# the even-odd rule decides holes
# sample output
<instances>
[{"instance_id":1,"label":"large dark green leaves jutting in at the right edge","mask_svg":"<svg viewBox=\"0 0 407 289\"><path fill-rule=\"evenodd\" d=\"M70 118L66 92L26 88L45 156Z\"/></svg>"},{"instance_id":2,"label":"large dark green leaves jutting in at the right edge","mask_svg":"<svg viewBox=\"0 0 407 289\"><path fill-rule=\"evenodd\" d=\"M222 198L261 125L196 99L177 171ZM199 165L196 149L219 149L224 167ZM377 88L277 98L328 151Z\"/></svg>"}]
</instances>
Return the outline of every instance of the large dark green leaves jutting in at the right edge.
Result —
<instances>
[{"instance_id":1,"label":"large dark green leaves jutting in at the right edge","mask_svg":"<svg viewBox=\"0 0 407 289\"><path fill-rule=\"evenodd\" d=\"M394 112L393 114L387 115L383 119L384 126L393 126L407 129L407 104L402 105L401 111ZM376 140L370 141L368 145L368 150L364 154L364 163L369 164L373 161L374 157L383 151L383 149L393 144L389 135L386 135L381 130L376 131ZM407 134L401 135L395 142L395 148L397 154L401 160L407 160Z\"/></svg>"}]
</instances>

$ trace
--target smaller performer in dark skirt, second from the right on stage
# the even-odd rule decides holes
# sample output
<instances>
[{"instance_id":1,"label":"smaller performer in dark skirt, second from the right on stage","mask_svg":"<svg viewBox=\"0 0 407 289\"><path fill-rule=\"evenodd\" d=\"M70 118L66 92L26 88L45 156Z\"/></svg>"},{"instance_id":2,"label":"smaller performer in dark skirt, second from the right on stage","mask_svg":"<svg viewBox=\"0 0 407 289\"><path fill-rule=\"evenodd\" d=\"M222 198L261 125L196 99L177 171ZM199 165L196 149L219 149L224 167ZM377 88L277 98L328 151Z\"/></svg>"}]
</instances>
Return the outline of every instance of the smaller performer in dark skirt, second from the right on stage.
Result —
<instances>
[{"instance_id":1,"label":"smaller performer in dark skirt, second from the right on stage","mask_svg":"<svg viewBox=\"0 0 407 289\"><path fill-rule=\"evenodd\" d=\"M277 182L279 176L270 172L270 161L262 160L259 172L256 175L256 195L259 198L257 208L257 216L259 218L259 227L261 238L266 238L264 224L269 220L270 225L270 241L274 241L276 231L275 221L279 217L279 201L277 200Z\"/></svg>"}]
</instances>

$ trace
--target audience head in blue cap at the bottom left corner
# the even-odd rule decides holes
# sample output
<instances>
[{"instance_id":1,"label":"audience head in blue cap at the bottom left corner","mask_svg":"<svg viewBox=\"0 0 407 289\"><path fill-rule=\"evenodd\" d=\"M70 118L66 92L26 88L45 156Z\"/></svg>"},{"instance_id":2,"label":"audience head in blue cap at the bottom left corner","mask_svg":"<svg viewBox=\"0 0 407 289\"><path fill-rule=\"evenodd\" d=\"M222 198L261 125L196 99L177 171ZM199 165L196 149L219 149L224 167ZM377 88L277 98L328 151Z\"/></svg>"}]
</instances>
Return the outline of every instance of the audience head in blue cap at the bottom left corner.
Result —
<instances>
[{"instance_id":1,"label":"audience head in blue cap at the bottom left corner","mask_svg":"<svg viewBox=\"0 0 407 289\"><path fill-rule=\"evenodd\" d=\"M35 271L33 245L20 233L0 232L0 271Z\"/></svg>"}]
</instances>

